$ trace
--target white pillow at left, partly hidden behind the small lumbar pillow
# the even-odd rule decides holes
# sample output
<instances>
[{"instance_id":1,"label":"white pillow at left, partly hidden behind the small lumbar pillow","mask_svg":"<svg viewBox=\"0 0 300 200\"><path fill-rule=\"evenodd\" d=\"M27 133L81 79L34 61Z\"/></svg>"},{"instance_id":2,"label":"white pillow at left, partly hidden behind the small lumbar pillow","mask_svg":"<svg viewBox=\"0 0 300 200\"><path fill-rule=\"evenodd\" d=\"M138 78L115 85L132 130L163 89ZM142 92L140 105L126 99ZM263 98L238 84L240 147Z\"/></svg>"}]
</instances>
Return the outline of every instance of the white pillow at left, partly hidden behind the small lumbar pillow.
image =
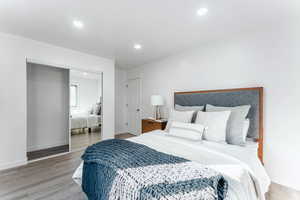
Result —
<instances>
[{"instance_id":1,"label":"white pillow at left, partly hidden behind the small lumbar pillow","mask_svg":"<svg viewBox=\"0 0 300 200\"><path fill-rule=\"evenodd\" d=\"M191 123L194 111L177 111L171 110L169 114L168 124L165 131L169 131L173 121Z\"/></svg>"}]
</instances>

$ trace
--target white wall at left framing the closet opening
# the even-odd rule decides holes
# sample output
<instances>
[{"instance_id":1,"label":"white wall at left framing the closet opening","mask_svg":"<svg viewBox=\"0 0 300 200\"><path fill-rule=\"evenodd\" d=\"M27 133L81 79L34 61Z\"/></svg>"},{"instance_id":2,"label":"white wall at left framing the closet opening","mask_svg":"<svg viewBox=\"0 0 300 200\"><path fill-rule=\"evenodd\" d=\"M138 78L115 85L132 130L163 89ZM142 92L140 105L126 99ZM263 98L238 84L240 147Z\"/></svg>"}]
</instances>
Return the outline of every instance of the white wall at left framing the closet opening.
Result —
<instances>
[{"instance_id":1,"label":"white wall at left framing the closet opening","mask_svg":"<svg viewBox=\"0 0 300 200\"><path fill-rule=\"evenodd\" d=\"M26 163L26 58L103 72L103 134L114 137L114 61L0 33L0 169Z\"/></svg>"}]
</instances>

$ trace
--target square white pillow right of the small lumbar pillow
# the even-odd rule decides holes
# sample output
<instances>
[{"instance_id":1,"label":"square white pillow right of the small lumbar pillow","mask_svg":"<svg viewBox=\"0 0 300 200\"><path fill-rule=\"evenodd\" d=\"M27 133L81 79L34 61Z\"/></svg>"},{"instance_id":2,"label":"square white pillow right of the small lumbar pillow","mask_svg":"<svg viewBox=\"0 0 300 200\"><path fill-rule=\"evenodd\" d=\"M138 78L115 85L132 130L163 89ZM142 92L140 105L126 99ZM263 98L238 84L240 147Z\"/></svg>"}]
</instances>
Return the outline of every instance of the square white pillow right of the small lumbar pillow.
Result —
<instances>
[{"instance_id":1,"label":"square white pillow right of the small lumbar pillow","mask_svg":"<svg viewBox=\"0 0 300 200\"><path fill-rule=\"evenodd\" d=\"M198 111L196 124L202 124L207 127L203 135L205 140L226 143L226 126L230 112L231 111Z\"/></svg>"}]
</instances>

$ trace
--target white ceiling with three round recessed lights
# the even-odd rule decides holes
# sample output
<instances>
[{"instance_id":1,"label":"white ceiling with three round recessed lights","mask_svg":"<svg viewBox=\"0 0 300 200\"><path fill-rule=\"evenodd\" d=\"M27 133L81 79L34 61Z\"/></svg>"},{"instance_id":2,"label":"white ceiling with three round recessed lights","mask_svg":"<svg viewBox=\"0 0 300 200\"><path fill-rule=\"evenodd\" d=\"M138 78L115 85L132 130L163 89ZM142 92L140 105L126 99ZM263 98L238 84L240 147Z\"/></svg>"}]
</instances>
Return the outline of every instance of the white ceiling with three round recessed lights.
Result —
<instances>
[{"instance_id":1,"label":"white ceiling with three round recessed lights","mask_svg":"<svg viewBox=\"0 0 300 200\"><path fill-rule=\"evenodd\" d=\"M208 8L206 16L197 16L201 7ZM299 20L299 13L299 0L1 0L0 31L115 58L117 66L130 68ZM83 29L73 26L75 19Z\"/></svg>"}]
</instances>

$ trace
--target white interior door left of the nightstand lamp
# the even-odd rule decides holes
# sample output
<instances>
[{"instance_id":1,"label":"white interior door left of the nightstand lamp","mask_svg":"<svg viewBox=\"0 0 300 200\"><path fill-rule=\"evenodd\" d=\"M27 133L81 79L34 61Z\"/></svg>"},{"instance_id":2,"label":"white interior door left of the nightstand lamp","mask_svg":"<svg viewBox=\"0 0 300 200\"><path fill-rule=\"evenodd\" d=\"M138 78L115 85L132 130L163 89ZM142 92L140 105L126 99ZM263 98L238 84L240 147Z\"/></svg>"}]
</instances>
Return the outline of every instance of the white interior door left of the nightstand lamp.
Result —
<instances>
[{"instance_id":1,"label":"white interior door left of the nightstand lamp","mask_svg":"<svg viewBox=\"0 0 300 200\"><path fill-rule=\"evenodd\" d=\"M128 80L128 132L141 134L140 79Z\"/></svg>"}]
</instances>

